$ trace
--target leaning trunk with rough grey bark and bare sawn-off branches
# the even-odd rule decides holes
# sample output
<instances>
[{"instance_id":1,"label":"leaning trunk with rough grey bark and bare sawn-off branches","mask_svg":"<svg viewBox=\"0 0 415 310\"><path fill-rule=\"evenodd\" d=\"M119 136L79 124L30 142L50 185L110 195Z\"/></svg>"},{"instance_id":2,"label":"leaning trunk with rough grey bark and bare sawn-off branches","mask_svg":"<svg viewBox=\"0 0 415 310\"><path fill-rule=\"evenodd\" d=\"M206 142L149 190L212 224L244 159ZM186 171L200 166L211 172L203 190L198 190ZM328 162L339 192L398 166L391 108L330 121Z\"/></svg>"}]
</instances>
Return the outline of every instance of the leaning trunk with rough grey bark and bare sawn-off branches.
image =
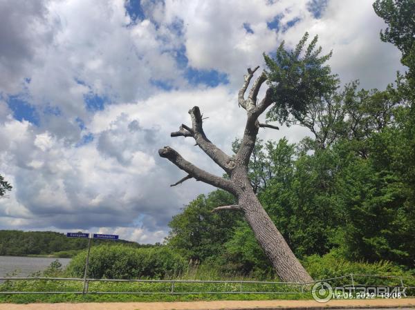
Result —
<instances>
[{"instance_id":1,"label":"leaning trunk with rough grey bark and bare sawn-off branches","mask_svg":"<svg viewBox=\"0 0 415 310\"><path fill-rule=\"evenodd\" d=\"M170 162L187 173L186 177L183 177L176 184L172 184L172 186L194 178L195 180L200 180L212 186L222 188L237 197L238 205L219 206L214 211L237 210L243 212L246 221L250 224L252 231L255 233L255 237L273 264L279 278L286 282L312 282L313 279L311 276L308 275L304 267L295 258L293 251L291 251L281 233L279 233L277 227L275 227L275 224L261 206L248 179L248 162L255 146L259 128L278 129L276 126L260 124L258 121L259 115L264 113L266 108L274 103L270 88L266 91L264 98L261 101L257 101L259 89L266 81L264 72L252 84L248 98L245 99L246 90L258 68L254 70L248 69L248 74L244 76L243 86L239 90L238 103L239 106L246 110L247 120L241 146L235 156L230 157L226 155L206 137L202 126L203 119L201 111L197 106L189 110L189 114L192 117L192 126L182 124L178 131L171 134L172 137L193 137L196 140L196 145L228 173L230 176L229 180L212 175L194 166L194 164L187 162L169 146L161 148L158 153L161 157L169 159Z\"/></svg>"}]
</instances>

